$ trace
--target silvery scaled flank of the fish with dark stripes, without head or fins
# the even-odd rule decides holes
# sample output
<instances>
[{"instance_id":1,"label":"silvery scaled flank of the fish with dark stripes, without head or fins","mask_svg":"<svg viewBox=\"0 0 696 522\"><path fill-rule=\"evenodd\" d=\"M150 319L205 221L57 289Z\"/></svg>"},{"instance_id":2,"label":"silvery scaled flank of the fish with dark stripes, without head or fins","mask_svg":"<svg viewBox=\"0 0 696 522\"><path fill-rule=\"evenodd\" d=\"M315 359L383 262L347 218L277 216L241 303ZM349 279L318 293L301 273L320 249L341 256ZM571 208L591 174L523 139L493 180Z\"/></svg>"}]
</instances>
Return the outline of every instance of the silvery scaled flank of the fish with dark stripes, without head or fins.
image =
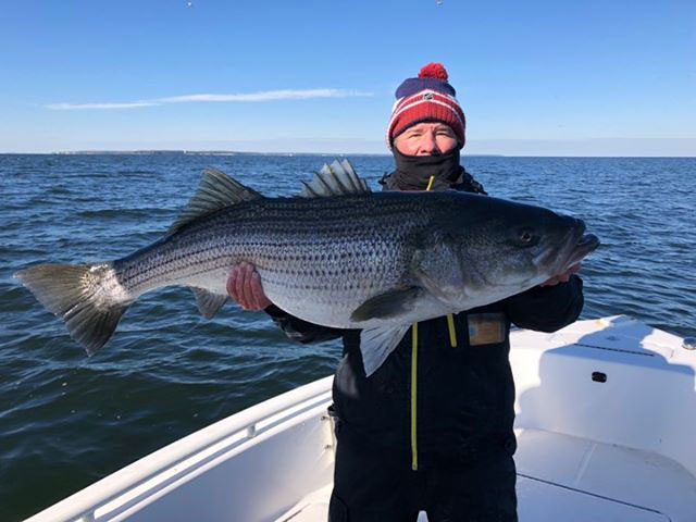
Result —
<instances>
[{"instance_id":1,"label":"silvery scaled flank of the fish with dark stripes, without head or fins","mask_svg":"<svg viewBox=\"0 0 696 522\"><path fill-rule=\"evenodd\" d=\"M167 241L115 261L116 277L134 298L172 281L224 293L225 279L214 274L247 261L257 268L273 302L290 309L307 308L311 301L352 310L405 279L409 253L401 247L403 237L422 227L408 219L412 204L389 197L383 198L386 217L374 219L364 211L360 217L365 199L261 199L229 207ZM310 226L301 226L301 221ZM200 279L210 273L213 277ZM333 321L336 327L356 326Z\"/></svg>"}]
</instances>

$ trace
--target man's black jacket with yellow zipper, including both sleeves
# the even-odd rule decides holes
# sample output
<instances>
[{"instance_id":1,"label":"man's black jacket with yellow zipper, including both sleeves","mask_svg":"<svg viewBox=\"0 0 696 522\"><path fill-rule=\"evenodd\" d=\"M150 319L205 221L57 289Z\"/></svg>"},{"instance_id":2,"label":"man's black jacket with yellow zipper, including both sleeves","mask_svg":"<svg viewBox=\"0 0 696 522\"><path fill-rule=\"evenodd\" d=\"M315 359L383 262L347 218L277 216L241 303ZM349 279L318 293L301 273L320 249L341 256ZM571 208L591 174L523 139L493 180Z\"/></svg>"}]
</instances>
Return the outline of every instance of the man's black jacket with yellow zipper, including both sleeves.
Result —
<instances>
[{"instance_id":1,"label":"man's black jacket with yellow zipper, including both sleeves","mask_svg":"<svg viewBox=\"0 0 696 522\"><path fill-rule=\"evenodd\" d=\"M470 183L453 187L480 191ZM582 286L573 275L451 319L421 322L415 357L411 327L369 378L359 331L311 324L274 306L266 312L300 343L343 337L333 389L340 444L374 450L397 467L425 469L500 448L514 451L510 326L554 332L572 323L583 308Z\"/></svg>"}]
</instances>

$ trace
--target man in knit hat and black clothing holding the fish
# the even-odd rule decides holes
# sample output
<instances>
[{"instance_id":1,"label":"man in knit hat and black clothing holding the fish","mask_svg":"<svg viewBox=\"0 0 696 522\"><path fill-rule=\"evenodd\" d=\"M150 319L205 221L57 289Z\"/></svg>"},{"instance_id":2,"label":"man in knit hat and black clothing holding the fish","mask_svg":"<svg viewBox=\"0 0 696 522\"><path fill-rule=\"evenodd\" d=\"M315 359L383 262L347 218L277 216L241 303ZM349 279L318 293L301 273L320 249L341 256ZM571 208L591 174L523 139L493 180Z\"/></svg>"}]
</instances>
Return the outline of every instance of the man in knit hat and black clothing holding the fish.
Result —
<instances>
[{"instance_id":1,"label":"man in knit hat and black clothing holding the fish","mask_svg":"<svg viewBox=\"0 0 696 522\"><path fill-rule=\"evenodd\" d=\"M396 171L387 190L486 194L460 166L464 114L440 64L397 89L387 141ZM574 266L499 302L413 325L365 376L356 331L294 318L263 294L253 266L235 266L231 297L265 310L300 343L343 337L334 380L336 468L331 522L517 521L511 323L552 332L583 307Z\"/></svg>"}]
</instances>

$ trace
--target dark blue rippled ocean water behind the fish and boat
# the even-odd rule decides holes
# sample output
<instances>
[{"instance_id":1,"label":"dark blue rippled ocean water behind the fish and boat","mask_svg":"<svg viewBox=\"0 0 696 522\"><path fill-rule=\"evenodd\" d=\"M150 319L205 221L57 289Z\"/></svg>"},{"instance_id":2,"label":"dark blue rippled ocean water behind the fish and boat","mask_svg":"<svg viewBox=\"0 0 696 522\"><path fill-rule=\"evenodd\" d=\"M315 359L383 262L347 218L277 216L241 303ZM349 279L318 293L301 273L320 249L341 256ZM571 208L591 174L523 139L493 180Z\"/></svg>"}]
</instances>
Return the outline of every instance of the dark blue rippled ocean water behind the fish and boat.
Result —
<instances>
[{"instance_id":1,"label":"dark blue rippled ocean water behind the fish and boat","mask_svg":"<svg viewBox=\"0 0 696 522\"><path fill-rule=\"evenodd\" d=\"M349 157L373 188L389 157ZM26 518L184 435L333 373L263 312L201 319L185 288L148 294L87 358L12 273L125 256L158 239L206 166L290 195L331 158L0 156L0 520ZM696 159L464 158L492 195L583 217L583 318L696 336Z\"/></svg>"}]
</instances>

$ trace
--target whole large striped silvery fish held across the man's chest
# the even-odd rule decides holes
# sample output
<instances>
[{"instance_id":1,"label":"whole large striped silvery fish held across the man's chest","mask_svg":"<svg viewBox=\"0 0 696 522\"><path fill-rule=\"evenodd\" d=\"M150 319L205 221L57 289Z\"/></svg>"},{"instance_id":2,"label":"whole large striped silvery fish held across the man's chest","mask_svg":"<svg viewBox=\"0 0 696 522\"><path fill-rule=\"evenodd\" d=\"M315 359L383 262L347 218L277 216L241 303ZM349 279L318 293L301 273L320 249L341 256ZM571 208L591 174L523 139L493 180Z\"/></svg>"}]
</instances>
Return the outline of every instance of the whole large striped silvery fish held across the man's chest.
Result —
<instances>
[{"instance_id":1,"label":"whole large striped silvery fish held across the man's chest","mask_svg":"<svg viewBox=\"0 0 696 522\"><path fill-rule=\"evenodd\" d=\"M335 161L299 197L266 198L216 170L161 240L95 264L15 274L89 353L128 306L170 285L212 318L235 263L252 263L266 296L306 321L360 328L370 375L418 321L504 299L577 263L598 240L582 221L463 194L371 192Z\"/></svg>"}]
</instances>

